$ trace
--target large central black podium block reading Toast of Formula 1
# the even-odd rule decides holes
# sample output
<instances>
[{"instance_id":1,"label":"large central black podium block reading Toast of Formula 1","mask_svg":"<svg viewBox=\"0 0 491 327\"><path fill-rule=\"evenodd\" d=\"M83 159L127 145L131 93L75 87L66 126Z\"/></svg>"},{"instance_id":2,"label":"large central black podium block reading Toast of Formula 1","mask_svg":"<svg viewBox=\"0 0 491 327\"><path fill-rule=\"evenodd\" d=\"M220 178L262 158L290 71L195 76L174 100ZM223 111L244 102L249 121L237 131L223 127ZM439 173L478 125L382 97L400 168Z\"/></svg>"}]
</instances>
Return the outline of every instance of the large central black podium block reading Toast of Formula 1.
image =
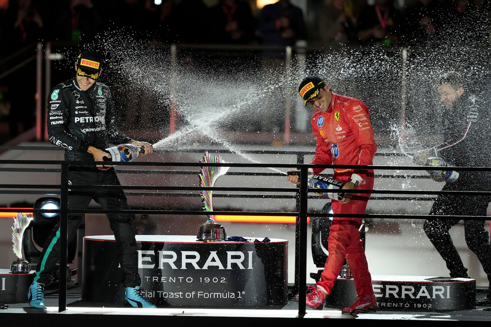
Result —
<instances>
[{"instance_id":1,"label":"large central black podium block reading Toast of Formula 1","mask_svg":"<svg viewBox=\"0 0 491 327\"><path fill-rule=\"evenodd\" d=\"M252 242L136 235L142 295L157 306L286 304L288 241L247 239ZM82 300L121 303L124 291L114 236L84 237Z\"/></svg>"}]
</instances>

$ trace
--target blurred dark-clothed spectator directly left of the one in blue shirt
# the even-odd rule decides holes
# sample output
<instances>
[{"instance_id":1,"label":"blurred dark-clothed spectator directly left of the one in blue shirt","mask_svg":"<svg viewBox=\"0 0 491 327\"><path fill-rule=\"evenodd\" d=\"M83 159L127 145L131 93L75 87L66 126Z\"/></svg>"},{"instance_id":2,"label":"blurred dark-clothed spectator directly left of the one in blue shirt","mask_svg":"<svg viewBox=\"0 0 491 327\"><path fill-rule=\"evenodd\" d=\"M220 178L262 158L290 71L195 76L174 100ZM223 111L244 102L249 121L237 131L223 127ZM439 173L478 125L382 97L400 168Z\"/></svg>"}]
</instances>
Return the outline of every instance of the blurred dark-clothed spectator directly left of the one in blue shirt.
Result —
<instances>
[{"instance_id":1,"label":"blurred dark-clothed spectator directly left of the one in blue shirt","mask_svg":"<svg viewBox=\"0 0 491 327\"><path fill-rule=\"evenodd\" d=\"M212 43L244 44L254 39L255 19L244 0L219 0L210 8L208 19Z\"/></svg>"}]
</instances>

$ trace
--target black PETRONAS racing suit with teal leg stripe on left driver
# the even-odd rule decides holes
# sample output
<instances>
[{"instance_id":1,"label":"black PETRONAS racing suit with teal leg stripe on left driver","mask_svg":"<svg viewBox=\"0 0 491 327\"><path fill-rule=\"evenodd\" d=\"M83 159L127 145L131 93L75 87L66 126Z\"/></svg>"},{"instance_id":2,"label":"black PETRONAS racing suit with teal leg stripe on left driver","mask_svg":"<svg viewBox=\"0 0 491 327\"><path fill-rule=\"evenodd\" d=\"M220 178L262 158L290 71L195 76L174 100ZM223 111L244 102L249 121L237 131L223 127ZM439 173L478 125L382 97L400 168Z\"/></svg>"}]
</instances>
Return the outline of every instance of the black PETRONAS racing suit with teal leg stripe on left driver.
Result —
<instances>
[{"instance_id":1,"label":"black PETRONAS racing suit with teal leg stripe on left driver","mask_svg":"<svg viewBox=\"0 0 491 327\"><path fill-rule=\"evenodd\" d=\"M50 142L65 148L66 161L94 161L87 152L89 146L98 149L112 144L131 143L133 140L114 127L115 117L109 87L95 82L82 91L76 78L55 86L48 96L48 135ZM103 209L129 209L122 190L100 189L98 185L120 185L113 168L107 171L93 166L70 165L70 185L90 185L94 189L74 189L68 193L68 208L84 210L94 199ZM68 241L75 237L83 214L68 215ZM124 287L140 285L138 275L135 229L131 215L108 214L114 232L117 256L122 269ZM59 258L59 222L39 258L34 280L46 284Z\"/></svg>"}]
</instances>

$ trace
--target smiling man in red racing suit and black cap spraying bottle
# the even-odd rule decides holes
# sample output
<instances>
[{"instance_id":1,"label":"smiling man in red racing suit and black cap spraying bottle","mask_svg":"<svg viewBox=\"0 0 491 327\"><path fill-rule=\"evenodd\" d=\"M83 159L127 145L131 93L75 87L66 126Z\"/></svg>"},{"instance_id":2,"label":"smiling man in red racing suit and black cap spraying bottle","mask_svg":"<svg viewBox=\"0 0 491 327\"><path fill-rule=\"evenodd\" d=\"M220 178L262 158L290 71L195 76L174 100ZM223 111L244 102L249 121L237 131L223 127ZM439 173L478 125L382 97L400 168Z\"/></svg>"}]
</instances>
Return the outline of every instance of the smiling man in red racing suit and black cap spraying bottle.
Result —
<instances>
[{"instance_id":1,"label":"smiling man in red racing suit and black cap spraying bottle","mask_svg":"<svg viewBox=\"0 0 491 327\"><path fill-rule=\"evenodd\" d=\"M377 147L367 106L360 100L332 93L317 76L308 76L299 87L305 105L316 110L312 115L312 133L317 138L315 156L311 164L324 165L373 165ZM324 168L309 169L319 174ZM334 169L334 179L345 183L343 189L373 189L373 170ZM287 180L299 184L298 175L289 175ZM342 200L332 200L334 214L364 214L368 193L345 193ZM312 292L307 294L306 303L318 308L324 303L341 271L346 257L355 279L357 299L354 304L343 308L343 313L366 310L376 305L370 272L362 247L358 228L361 218L334 217L329 237L324 271ZM373 309L373 308L372 308Z\"/></svg>"}]
</instances>

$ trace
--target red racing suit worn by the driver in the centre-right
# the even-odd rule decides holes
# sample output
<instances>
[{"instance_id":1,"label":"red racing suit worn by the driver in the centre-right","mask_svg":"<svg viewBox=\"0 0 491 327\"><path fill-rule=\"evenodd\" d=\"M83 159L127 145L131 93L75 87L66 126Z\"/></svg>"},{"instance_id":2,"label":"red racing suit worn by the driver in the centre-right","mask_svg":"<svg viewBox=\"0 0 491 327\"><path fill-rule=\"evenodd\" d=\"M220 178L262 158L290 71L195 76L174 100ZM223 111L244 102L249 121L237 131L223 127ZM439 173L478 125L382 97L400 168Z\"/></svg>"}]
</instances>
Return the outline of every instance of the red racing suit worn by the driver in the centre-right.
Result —
<instances>
[{"instance_id":1,"label":"red racing suit worn by the driver in the centre-right","mask_svg":"<svg viewBox=\"0 0 491 327\"><path fill-rule=\"evenodd\" d=\"M312 133L317 138L311 164L372 165L377 147L367 106L360 100L332 94L327 112L316 110L312 116ZM314 168L319 174L324 168ZM373 170L334 169L333 177L343 182L352 174L363 178L358 189L373 189ZM370 194L355 193L350 202L332 200L334 214L364 214ZM344 258L351 268L358 296L373 294L370 272L358 228L361 218L334 217L329 237L326 265L317 288L330 293Z\"/></svg>"}]
</instances>

